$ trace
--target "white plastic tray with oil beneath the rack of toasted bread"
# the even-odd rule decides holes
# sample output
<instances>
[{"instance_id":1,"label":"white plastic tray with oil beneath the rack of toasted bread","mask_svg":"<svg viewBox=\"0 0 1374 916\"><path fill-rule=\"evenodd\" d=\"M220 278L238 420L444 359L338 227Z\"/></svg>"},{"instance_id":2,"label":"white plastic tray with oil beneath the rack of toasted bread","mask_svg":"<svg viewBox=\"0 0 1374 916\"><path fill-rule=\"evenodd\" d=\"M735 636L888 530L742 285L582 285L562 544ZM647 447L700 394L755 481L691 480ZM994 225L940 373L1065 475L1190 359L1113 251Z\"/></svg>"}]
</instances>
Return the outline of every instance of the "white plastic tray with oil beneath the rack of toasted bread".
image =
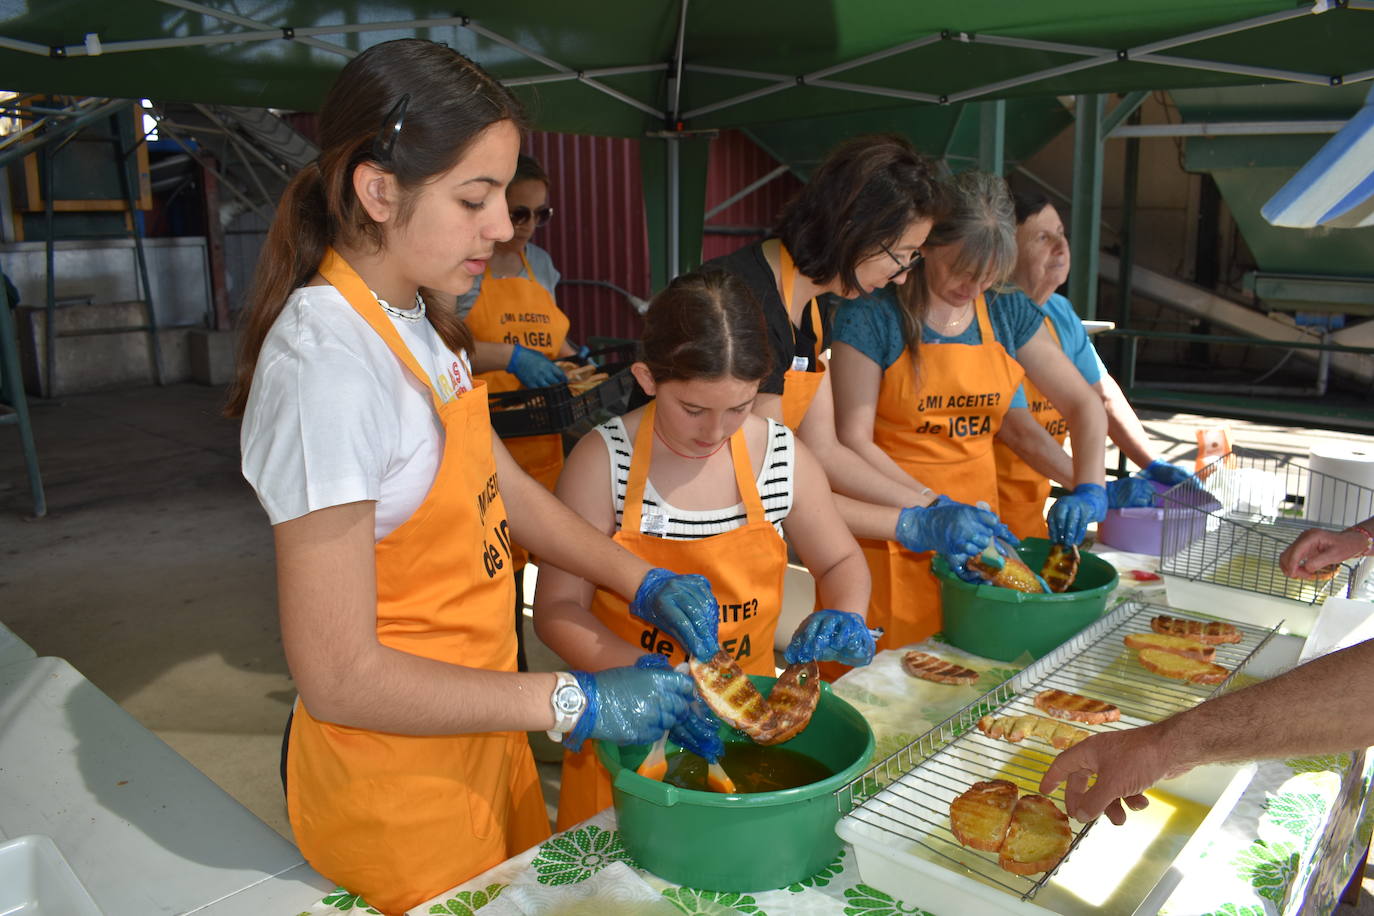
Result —
<instances>
[{"instance_id":1,"label":"white plastic tray with oil beneath the rack of toasted bread","mask_svg":"<svg viewBox=\"0 0 1374 916\"><path fill-rule=\"evenodd\" d=\"M1143 725L1162 717L1154 700L1171 702L1164 694L1182 688L1160 681L1132 696L1134 667L1129 662L1110 661L1118 651L1128 654L1117 630L1139 629L1139 619L1154 610L1164 608L1135 603L1117 608L980 702L996 707L1006 703L1007 710L1025 711L1017 707L1028 702L1022 694L1046 685L1044 678L1061 689L1074 689L1081 677L1083 692L1105 696L1121 707L1121 722L1110 728ZM1242 645L1226 648L1249 658L1243 666L1246 674L1271 676L1297 661L1301 640L1296 637L1264 637L1250 628L1242 628ZM1094 672L1107 680L1096 681ZM1112 673L1121 677L1120 683L1110 683ZM1011 691L1010 699L1003 699L1003 691ZM1120 691L1120 696L1110 691ZM1193 702L1202 696L1205 692ZM1172 702L1182 703L1180 707L1191 705ZM940 747L933 754L921 751L915 769L841 818L835 831L853 846L866 883L941 916L1154 912L1150 906L1157 908L1178 883L1175 862L1183 861L1190 847L1197 849L1197 839L1227 817L1254 773L1253 766L1208 766L1161 783L1156 787L1158 801L1153 810L1128 817L1125 828L1103 823L1083 834L1059 869L1035 889L1028 879L1003 873L995 864L989 867L985 853L954 843L948 803L967 788L970 779L1010 779L1022 791L1036 791L1052 751L1032 742L993 742L976 729ZM974 770L977 775L970 776ZM1062 798L1061 792L1055 797Z\"/></svg>"}]
</instances>

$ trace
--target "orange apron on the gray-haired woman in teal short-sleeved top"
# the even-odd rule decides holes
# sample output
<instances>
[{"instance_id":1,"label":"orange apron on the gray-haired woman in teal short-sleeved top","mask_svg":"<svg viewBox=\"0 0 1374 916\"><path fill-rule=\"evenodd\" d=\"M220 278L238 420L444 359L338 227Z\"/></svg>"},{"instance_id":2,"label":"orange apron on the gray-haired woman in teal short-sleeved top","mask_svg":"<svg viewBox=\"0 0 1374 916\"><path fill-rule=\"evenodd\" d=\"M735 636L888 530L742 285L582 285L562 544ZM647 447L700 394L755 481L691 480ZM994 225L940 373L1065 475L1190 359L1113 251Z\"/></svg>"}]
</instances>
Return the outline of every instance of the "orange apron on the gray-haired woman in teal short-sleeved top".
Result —
<instances>
[{"instance_id":1,"label":"orange apron on the gray-haired woman in teal short-sleeved top","mask_svg":"<svg viewBox=\"0 0 1374 916\"><path fill-rule=\"evenodd\" d=\"M992 332L988 304L976 305L981 343L921 347L921 379L910 352L882 374L872 441L904 471L951 500L989 503L996 512L993 435L1024 378ZM860 538L872 574L868 626L886 630L878 648L919 643L940 629L940 585L932 551L912 553L896 541Z\"/></svg>"}]
</instances>

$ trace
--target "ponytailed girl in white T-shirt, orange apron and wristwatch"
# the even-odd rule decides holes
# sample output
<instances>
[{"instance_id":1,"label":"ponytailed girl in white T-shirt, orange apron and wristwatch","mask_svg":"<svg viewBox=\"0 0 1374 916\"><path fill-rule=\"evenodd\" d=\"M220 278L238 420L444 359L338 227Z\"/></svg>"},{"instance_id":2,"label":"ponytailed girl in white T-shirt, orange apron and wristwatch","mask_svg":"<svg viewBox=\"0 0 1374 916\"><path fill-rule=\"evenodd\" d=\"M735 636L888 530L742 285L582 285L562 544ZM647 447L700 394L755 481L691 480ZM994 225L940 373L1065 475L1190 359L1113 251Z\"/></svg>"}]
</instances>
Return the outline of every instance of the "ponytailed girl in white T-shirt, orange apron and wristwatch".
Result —
<instances>
[{"instance_id":1,"label":"ponytailed girl in white T-shirt, orange apron and wristwatch","mask_svg":"<svg viewBox=\"0 0 1374 916\"><path fill-rule=\"evenodd\" d=\"M695 696L666 670L518 673L513 537L694 654L719 648L705 580L614 544L492 437L452 304L511 238L523 129L508 91L445 45L349 60L268 232L225 408L273 526L300 691L291 829L385 913L548 836L526 732L639 744Z\"/></svg>"}]
</instances>

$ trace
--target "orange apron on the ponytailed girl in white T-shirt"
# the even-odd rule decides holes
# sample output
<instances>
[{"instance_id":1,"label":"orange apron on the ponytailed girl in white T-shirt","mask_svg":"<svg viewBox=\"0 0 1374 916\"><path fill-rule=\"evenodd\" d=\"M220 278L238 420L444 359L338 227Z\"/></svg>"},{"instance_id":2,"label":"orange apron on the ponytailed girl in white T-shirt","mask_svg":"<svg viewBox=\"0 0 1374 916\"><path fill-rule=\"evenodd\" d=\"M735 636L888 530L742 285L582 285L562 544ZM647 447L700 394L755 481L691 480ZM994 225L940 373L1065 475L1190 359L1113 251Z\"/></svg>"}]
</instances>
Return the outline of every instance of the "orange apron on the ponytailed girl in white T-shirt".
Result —
<instances>
[{"instance_id":1,"label":"orange apron on the ponytailed girl in white T-shirt","mask_svg":"<svg viewBox=\"0 0 1374 916\"><path fill-rule=\"evenodd\" d=\"M376 542L376 637L449 665L515 670L506 504L481 382L442 401L333 249L324 276L422 379L444 426L434 485ZM297 703L287 810L306 861L386 913L460 884L548 836L523 732L389 735L316 720Z\"/></svg>"}]
</instances>

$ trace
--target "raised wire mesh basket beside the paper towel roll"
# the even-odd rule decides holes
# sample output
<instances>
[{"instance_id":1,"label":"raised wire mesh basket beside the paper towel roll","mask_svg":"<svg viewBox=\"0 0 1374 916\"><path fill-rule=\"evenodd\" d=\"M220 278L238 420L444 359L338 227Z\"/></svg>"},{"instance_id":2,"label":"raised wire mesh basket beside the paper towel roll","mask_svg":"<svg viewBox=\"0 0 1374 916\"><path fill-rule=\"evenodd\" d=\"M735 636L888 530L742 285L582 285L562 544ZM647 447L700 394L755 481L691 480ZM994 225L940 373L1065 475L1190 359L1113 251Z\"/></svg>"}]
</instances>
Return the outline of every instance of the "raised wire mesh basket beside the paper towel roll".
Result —
<instances>
[{"instance_id":1,"label":"raised wire mesh basket beside the paper towel roll","mask_svg":"<svg viewBox=\"0 0 1374 916\"><path fill-rule=\"evenodd\" d=\"M1279 556L1309 527L1340 530L1374 515L1374 489L1305 463L1235 450L1162 496L1160 570L1168 577L1320 604L1349 597L1363 560L1327 567L1316 580L1289 578Z\"/></svg>"}]
</instances>

